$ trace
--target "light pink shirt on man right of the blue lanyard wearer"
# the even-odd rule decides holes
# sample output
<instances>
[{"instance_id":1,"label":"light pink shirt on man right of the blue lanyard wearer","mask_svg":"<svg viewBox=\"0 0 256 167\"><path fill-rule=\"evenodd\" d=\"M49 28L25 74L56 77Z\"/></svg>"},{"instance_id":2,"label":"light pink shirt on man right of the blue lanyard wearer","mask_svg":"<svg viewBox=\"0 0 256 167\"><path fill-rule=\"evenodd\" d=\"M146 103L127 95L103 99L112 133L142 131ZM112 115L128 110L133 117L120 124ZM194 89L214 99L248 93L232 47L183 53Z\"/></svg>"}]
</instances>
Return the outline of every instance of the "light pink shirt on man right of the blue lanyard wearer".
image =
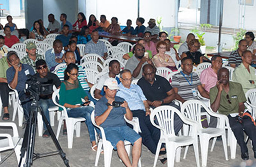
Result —
<instances>
[{"instance_id":1,"label":"light pink shirt on man right of the blue lanyard wearer","mask_svg":"<svg viewBox=\"0 0 256 167\"><path fill-rule=\"evenodd\" d=\"M210 88L216 86L218 76L210 66L202 71L200 81L205 85L205 90L210 92Z\"/></svg>"}]
</instances>

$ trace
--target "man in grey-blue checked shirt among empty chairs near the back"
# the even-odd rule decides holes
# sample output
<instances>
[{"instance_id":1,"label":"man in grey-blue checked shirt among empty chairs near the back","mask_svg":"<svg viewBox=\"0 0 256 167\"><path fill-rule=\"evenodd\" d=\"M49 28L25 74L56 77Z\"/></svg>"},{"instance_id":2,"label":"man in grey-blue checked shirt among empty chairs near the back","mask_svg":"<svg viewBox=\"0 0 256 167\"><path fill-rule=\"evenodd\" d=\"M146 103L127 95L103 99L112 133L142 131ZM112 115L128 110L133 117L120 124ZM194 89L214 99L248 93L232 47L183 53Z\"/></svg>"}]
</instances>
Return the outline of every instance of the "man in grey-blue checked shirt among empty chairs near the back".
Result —
<instances>
[{"instance_id":1,"label":"man in grey-blue checked shirt among empty chairs near the back","mask_svg":"<svg viewBox=\"0 0 256 167\"><path fill-rule=\"evenodd\" d=\"M104 42L99 41L99 33L97 30L93 30L91 34L92 40L89 41L85 46L85 54L95 53L102 56L104 59L107 58L107 48Z\"/></svg>"}]
</instances>

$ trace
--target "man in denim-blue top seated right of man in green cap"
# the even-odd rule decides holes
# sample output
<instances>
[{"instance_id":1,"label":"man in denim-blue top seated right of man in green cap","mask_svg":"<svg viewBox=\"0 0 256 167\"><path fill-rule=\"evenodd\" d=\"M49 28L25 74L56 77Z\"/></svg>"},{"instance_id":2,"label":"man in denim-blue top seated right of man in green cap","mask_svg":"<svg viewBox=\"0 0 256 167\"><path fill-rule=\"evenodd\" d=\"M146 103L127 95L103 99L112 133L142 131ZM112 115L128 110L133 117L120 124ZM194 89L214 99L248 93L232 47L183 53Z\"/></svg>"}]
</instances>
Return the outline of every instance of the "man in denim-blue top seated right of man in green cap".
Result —
<instances>
[{"instance_id":1,"label":"man in denim-blue top seated right of man in green cap","mask_svg":"<svg viewBox=\"0 0 256 167\"><path fill-rule=\"evenodd\" d=\"M64 60L61 60L64 54L65 51L63 50L62 42L55 40L53 42L53 48L45 52L45 61L50 71L54 71L59 63L64 63Z\"/></svg>"}]
</instances>

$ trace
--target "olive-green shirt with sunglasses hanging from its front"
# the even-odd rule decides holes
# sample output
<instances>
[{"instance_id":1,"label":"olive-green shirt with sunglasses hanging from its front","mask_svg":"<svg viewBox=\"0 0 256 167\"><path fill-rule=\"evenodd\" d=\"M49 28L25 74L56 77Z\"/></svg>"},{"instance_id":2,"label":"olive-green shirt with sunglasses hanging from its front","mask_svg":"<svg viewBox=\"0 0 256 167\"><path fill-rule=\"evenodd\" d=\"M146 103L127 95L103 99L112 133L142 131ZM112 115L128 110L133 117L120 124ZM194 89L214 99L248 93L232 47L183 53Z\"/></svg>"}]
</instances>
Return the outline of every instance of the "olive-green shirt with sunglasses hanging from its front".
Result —
<instances>
[{"instance_id":1,"label":"olive-green shirt with sunglasses hanging from its front","mask_svg":"<svg viewBox=\"0 0 256 167\"><path fill-rule=\"evenodd\" d=\"M217 86L210 89L211 104L215 101L218 91ZM222 90L220 96L220 107L218 109L219 113L225 115L238 113L239 103L246 101L245 93L241 84L229 81L228 97L231 103L228 102L225 90Z\"/></svg>"}]
</instances>

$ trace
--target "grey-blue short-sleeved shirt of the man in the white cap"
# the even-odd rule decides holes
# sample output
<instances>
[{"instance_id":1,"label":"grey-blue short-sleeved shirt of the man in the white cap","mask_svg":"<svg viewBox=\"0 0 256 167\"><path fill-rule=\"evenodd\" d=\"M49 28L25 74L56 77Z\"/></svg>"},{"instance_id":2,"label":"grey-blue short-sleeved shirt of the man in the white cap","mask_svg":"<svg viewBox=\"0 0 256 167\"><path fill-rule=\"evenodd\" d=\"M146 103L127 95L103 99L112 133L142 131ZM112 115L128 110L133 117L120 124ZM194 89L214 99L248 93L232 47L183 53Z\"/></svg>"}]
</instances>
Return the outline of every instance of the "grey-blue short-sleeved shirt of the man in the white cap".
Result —
<instances>
[{"instance_id":1,"label":"grey-blue short-sleeved shirt of the man in the white cap","mask_svg":"<svg viewBox=\"0 0 256 167\"><path fill-rule=\"evenodd\" d=\"M95 116L102 115L107 110L107 98L103 96L95 105ZM124 101L123 98L115 96L115 101ZM107 119L101 124L101 127L118 127L118 126L126 126L126 122L124 120L124 114L126 114L126 110L124 107L113 107L110 111Z\"/></svg>"}]
</instances>

